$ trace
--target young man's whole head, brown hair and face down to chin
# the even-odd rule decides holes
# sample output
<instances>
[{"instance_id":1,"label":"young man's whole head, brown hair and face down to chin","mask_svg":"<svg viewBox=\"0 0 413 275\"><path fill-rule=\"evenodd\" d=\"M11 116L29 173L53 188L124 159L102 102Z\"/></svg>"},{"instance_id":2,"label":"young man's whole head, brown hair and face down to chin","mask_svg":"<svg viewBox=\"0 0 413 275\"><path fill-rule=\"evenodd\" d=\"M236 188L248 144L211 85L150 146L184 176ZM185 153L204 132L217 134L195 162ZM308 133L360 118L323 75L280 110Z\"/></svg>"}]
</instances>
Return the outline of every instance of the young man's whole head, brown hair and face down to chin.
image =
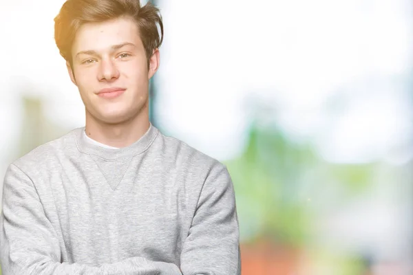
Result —
<instances>
[{"instance_id":1,"label":"young man's whole head, brown hair and face down to chin","mask_svg":"<svg viewBox=\"0 0 413 275\"><path fill-rule=\"evenodd\" d=\"M157 8L138 0L68 0L54 21L56 45L89 118L113 124L147 110L163 37ZM105 93L109 88L120 91Z\"/></svg>"}]
</instances>

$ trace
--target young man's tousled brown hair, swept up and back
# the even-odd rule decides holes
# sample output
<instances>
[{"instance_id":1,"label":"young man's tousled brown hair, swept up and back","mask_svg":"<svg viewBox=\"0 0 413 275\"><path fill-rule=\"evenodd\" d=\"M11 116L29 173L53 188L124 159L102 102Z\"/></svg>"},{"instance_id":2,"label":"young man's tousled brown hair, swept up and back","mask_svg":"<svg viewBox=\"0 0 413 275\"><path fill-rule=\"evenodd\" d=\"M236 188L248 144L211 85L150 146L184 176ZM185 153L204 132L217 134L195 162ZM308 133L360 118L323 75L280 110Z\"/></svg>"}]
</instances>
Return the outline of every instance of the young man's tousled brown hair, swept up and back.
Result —
<instances>
[{"instance_id":1,"label":"young man's tousled brown hair, swept up and back","mask_svg":"<svg viewBox=\"0 0 413 275\"><path fill-rule=\"evenodd\" d=\"M136 21L149 66L153 50L160 47L163 40L162 17L150 1L141 7L139 0L67 0L54 18L54 39L61 56L72 65L72 43L84 23L125 16Z\"/></svg>"}]
</instances>

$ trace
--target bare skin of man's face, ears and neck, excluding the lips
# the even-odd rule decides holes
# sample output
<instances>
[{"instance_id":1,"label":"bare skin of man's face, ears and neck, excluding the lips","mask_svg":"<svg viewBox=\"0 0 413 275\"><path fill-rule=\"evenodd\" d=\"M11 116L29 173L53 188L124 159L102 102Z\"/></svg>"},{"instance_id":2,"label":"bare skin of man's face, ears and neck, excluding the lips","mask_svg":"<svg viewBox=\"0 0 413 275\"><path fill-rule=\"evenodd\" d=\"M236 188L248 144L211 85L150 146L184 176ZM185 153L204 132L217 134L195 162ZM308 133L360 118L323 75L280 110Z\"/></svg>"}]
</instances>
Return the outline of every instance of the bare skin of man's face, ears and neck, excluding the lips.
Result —
<instances>
[{"instance_id":1,"label":"bare skin of man's face, ears and neck, excluding the lips","mask_svg":"<svg viewBox=\"0 0 413 275\"><path fill-rule=\"evenodd\" d=\"M148 60L133 19L121 17L101 23L85 23L72 45L72 66L66 63L85 104L86 133L114 147L139 140L149 129L149 80L159 67L159 51ZM122 87L116 98L98 91Z\"/></svg>"}]
</instances>

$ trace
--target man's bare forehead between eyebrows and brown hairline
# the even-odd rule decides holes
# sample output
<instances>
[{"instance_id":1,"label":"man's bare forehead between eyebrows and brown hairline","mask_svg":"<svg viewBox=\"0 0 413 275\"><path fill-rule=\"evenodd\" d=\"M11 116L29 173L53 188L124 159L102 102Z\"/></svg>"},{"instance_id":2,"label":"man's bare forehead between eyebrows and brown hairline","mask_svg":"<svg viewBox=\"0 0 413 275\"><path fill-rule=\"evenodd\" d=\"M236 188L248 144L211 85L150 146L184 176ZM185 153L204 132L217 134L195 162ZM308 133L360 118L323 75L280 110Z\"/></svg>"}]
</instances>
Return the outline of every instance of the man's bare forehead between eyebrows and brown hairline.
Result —
<instances>
[{"instance_id":1,"label":"man's bare forehead between eyebrows and brown hairline","mask_svg":"<svg viewBox=\"0 0 413 275\"><path fill-rule=\"evenodd\" d=\"M85 23L76 32L72 54L85 50L109 50L120 43L141 45L138 26L133 19L119 18L99 23Z\"/></svg>"}]
</instances>

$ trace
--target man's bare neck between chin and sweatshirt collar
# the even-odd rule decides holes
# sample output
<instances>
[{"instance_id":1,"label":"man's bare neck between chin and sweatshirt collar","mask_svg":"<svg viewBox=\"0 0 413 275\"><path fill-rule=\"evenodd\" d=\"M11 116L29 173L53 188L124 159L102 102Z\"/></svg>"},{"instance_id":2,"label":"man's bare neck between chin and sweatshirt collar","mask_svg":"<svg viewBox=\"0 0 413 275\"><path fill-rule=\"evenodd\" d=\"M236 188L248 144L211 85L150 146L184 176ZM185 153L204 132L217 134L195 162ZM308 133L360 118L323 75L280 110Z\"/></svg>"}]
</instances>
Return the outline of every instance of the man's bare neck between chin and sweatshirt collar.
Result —
<instances>
[{"instance_id":1,"label":"man's bare neck between chin and sweatshirt collar","mask_svg":"<svg viewBox=\"0 0 413 275\"><path fill-rule=\"evenodd\" d=\"M107 123L94 118L86 111L86 135L108 146L123 148L145 135L150 126L149 112L142 109L138 115L120 123Z\"/></svg>"}]
</instances>

